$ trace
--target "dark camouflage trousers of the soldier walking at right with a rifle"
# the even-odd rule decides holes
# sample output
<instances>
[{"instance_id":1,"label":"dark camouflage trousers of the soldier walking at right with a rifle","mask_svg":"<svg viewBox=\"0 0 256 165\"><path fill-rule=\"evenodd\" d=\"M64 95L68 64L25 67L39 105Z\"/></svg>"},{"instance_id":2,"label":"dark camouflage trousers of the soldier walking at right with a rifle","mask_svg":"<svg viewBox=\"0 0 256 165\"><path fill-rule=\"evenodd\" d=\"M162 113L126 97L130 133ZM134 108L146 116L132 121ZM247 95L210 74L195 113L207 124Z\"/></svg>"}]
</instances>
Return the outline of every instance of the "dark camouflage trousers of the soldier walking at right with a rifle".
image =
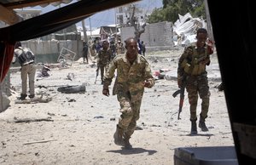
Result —
<instances>
[{"instance_id":1,"label":"dark camouflage trousers of the soldier walking at right with a rifle","mask_svg":"<svg viewBox=\"0 0 256 165\"><path fill-rule=\"evenodd\" d=\"M201 98L201 117L207 118L207 113L209 110L209 102L210 102L210 91L208 86L208 78L207 74L203 74L201 76L191 76L187 77L187 86L186 90L188 92L189 97L189 105L190 105L190 121L196 121L196 107L198 102L198 95Z\"/></svg>"}]
</instances>

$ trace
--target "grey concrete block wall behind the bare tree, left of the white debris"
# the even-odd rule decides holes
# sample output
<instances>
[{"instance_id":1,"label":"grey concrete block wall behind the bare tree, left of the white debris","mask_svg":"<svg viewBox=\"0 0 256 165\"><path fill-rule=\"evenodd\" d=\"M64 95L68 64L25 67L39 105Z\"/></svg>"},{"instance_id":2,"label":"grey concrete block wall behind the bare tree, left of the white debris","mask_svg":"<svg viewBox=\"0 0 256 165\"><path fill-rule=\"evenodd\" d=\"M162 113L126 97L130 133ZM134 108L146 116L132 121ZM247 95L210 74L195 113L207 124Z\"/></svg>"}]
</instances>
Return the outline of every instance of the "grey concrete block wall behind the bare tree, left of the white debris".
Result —
<instances>
[{"instance_id":1,"label":"grey concrete block wall behind the bare tree, left of the white debris","mask_svg":"<svg viewBox=\"0 0 256 165\"><path fill-rule=\"evenodd\" d=\"M128 37L135 37L134 27L120 29L122 42ZM145 26L145 32L141 35L146 47L173 47L173 28L171 22L159 22Z\"/></svg>"}]
</instances>

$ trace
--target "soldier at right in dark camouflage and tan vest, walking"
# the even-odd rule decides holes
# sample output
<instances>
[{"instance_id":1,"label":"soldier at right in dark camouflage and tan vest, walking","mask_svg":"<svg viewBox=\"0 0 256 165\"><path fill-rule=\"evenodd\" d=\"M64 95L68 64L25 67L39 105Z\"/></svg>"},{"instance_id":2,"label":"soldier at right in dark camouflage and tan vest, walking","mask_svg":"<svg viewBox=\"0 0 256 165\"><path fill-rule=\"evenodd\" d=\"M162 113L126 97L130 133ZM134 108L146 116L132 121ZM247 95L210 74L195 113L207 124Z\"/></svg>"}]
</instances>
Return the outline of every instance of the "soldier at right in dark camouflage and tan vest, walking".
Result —
<instances>
[{"instance_id":1,"label":"soldier at right in dark camouflage and tan vest, walking","mask_svg":"<svg viewBox=\"0 0 256 165\"><path fill-rule=\"evenodd\" d=\"M191 43L184 48L183 54L178 60L177 85L185 85L189 97L191 134L197 134L196 106L198 94L201 98L201 114L199 128L208 131L205 123L209 109L210 91L206 65L210 64L210 54L213 53L212 46L207 44L207 30L200 28L196 35L197 42Z\"/></svg>"}]
</instances>

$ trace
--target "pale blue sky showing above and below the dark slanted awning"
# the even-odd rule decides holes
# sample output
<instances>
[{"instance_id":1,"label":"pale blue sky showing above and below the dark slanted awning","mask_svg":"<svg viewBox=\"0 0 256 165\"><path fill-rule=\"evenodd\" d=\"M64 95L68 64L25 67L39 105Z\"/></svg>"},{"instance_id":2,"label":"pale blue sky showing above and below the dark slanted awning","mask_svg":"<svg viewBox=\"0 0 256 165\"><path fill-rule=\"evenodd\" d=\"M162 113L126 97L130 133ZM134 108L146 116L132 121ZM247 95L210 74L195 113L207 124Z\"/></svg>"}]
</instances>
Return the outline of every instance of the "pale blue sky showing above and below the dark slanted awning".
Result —
<instances>
[{"instance_id":1,"label":"pale blue sky showing above and below the dark slanted awning","mask_svg":"<svg viewBox=\"0 0 256 165\"><path fill-rule=\"evenodd\" d=\"M147 10L154 9L154 8L160 8L162 7L162 0L142 0L137 3L138 7ZM42 13L47 13L53 9L57 9L59 7L54 7L52 5L49 5L45 8L42 8L40 6L33 7L33 8L27 8L27 9L41 9ZM96 27L100 26L109 26L115 24L115 17L114 17L114 9L108 9L102 12L99 12L97 14L93 14L90 16L90 19L85 19L85 26L91 27L91 29L95 29ZM77 26L81 26L81 22L77 24Z\"/></svg>"}]
</instances>

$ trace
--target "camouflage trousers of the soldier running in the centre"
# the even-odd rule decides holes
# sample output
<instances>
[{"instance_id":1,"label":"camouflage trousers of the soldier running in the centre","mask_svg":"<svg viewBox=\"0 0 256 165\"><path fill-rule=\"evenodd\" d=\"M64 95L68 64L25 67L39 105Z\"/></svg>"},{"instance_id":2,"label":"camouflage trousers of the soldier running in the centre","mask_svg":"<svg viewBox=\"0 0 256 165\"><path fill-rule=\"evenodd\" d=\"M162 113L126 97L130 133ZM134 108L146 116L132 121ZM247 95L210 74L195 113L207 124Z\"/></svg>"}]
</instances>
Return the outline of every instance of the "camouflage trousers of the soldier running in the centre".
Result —
<instances>
[{"instance_id":1,"label":"camouflage trousers of the soldier running in the centre","mask_svg":"<svg viewBox=\"0 0 256 165\"><path fill-rule=\"evenodd\" d=\"M140 107L142 105L143 92L131 94L130 92L118 91L117 94L120 112L119 128L124 130L124 133L131 137L137 126L137 120L140 117Z\"/></svg>"}]
</instances>

